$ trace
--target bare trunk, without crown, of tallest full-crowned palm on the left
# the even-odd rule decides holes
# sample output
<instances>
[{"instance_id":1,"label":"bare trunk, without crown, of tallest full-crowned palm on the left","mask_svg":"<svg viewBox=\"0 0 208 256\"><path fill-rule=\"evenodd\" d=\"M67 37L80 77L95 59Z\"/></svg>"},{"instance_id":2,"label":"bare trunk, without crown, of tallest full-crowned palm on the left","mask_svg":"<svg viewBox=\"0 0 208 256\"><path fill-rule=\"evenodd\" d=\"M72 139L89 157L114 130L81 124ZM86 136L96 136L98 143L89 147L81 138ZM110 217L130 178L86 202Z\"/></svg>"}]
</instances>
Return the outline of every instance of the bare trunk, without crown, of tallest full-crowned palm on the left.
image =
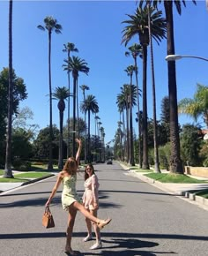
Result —
<instances>
[{"instance_id":1,"label":"bare trunk, without crown, of tallest full-crowned palm on the left","mask_svg":"<svg viewBox=\"0 0 208 256\"><path fill-rule=\"evenodd\" d=\"M51 31L48 32L48 76L49 76L49 160L48 170L53 170L53 121L52 121L52 86L51 86Z\"/></svg>"}]
</instances>

